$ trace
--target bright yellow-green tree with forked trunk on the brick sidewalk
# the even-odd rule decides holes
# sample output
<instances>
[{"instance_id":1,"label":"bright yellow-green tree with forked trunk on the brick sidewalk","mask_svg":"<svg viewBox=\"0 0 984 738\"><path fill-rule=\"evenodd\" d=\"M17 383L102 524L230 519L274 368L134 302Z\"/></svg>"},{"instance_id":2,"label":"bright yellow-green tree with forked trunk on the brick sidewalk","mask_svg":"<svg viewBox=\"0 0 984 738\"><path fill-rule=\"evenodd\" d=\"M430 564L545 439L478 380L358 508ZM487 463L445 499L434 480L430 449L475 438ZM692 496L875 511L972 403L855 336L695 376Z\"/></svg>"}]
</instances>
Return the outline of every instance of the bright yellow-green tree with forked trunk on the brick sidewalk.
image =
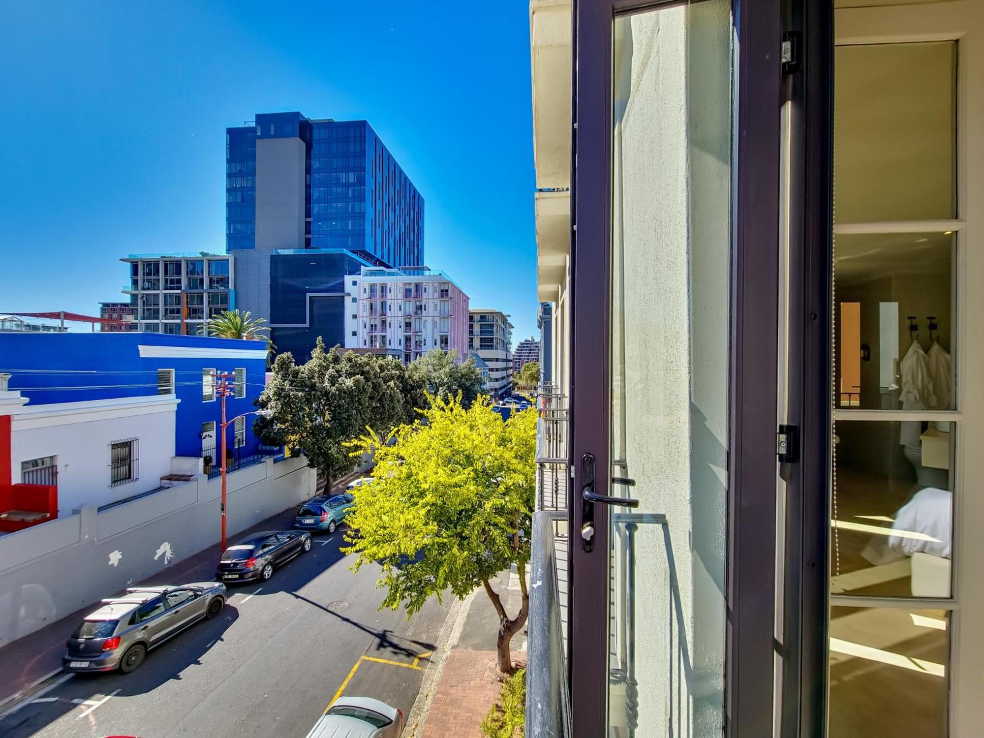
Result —
<instances>
[{"instance_id":1,"label":"bright yellow-green tree with forked trunk on the brick sidewalk","mask_svg":"<svg viewBox=\"0 0 984 738\"><path fill-rule=\"evenodd\" d=\"M464 597L482 586L499 615L497 664L512 672L510 641L526 622L525 565L535 487L536 412L507 422L479 398L431 397L423 418L389 437L368 433L349 444L375 453L375 483L355 493L347 552L359 567L378 562L381 607L410 617L431 595ZM523 603L510 617L490 580L517 565Z\"/></svg>"}]
</instances>

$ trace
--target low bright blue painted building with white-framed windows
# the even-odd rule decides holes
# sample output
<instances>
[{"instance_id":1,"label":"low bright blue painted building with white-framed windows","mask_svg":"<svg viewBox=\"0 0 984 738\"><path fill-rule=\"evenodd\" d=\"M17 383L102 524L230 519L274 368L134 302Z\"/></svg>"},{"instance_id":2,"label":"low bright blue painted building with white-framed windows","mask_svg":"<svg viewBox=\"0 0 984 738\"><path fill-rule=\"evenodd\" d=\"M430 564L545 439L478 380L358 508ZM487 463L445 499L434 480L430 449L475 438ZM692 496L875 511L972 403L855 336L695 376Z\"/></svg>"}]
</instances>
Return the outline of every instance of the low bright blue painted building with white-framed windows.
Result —
<instances>
[{"instance_id":1,"label":"low bright blue painted building with white-framed windows","mask_svg":"<svg viewBox=\"0 0 984 738\"><path fill-rule=\"evenodd\" d=\"M215 373L234 376L226 417L255 410L266 381L262 341L151 333L0 334L0 372L31 405L174 395L175 454L198 457L214 448L221 419ZM260 453L254 416L227 430L240 458ZM217 459L217 457L214 457Z\"/></svg>"}]
</instances>

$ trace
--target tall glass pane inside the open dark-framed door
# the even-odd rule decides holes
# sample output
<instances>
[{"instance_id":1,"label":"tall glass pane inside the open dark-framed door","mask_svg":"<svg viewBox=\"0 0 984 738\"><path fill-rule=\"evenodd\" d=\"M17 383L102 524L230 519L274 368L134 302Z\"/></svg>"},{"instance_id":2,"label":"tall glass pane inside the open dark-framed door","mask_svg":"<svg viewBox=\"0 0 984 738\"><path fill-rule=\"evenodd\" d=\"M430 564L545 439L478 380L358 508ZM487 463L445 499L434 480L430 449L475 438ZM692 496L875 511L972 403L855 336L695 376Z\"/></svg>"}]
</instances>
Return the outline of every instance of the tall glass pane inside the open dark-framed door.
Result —
<instances>
[{"instance_id":1,"label":"tall glass pane inside the open dark-framed door","mask_svg":"<svg viewBox=\"0 0 984 738\"><path fill-rule=\"evenodd\" d=\"M730 4L616 16L608 734L723 722Z\"/></svg>"}]
</instances>

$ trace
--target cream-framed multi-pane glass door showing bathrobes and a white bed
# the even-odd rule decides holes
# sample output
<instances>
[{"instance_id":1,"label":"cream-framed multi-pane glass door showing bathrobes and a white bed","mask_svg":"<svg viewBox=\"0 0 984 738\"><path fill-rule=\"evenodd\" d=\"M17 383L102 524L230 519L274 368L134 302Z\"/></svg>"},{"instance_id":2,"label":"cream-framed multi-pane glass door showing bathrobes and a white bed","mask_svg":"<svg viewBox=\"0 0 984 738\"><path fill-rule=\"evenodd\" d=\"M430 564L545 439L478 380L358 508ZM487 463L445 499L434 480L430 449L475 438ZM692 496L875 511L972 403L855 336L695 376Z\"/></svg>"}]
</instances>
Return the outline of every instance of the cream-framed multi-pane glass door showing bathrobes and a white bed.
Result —
<instances>
[{"instance_id":1,"label":"cream-framed multi-pane glass door showing bathrobes and a white bed","mask_svg":"<svg viewBox=\"0 0 984 738\"><path fill-rule=\"evenodd\" d=\"M984 414L971 358L984 348L972 5L835 16L828 734L838 738L976 734L955 725L979 708L953 700L979 689L979 674L961 685L954 665L979 653L968 617L984 593L979 577L958 576L979 556Z\"/></svg>"}]
</instances>

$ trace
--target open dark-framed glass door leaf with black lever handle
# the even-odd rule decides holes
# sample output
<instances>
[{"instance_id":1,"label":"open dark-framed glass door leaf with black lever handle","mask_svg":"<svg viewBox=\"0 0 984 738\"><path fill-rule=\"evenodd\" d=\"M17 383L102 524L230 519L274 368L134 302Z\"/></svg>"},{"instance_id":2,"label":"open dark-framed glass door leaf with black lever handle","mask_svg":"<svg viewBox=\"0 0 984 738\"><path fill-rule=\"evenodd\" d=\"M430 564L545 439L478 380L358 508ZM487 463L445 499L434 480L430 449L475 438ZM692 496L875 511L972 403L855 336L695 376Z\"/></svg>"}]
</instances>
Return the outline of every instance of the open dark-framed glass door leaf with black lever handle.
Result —
<instances>
[{"instance_id":1,"label":"open dark-framed glass door leaf with black lever handle","mask_svg":"<svg viewBox=\"0 0 984 738\"><path fill-rule=\"evenodd\" d=\"M575 4L576 738L772 721L781 14L748 6Z\"/></svg>"}]
</instances>

